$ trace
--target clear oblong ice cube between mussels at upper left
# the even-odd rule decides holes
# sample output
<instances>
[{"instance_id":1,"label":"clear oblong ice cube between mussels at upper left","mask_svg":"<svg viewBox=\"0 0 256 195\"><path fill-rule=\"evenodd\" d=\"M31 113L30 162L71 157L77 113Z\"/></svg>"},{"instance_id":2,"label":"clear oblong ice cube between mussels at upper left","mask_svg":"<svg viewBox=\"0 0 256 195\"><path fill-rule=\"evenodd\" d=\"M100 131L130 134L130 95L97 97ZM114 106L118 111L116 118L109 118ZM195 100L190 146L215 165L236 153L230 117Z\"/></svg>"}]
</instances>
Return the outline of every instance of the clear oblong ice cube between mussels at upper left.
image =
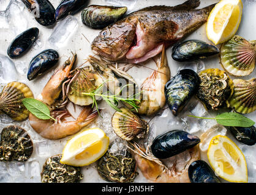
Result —
<instances>
[{"instance_id":1,"label":"clear oblong ice cube between mussels at upper left","mask_svg":"<svg viewBox=\"0 0 256 195\"><path fill-rule=\"evenodd\" d=\"M67 41L76 32L78 27L78 21L74 16L67 16L62 21L59 21L53 29L48 42L56 49L65 46Z\"/></svg>"}]
</instances>

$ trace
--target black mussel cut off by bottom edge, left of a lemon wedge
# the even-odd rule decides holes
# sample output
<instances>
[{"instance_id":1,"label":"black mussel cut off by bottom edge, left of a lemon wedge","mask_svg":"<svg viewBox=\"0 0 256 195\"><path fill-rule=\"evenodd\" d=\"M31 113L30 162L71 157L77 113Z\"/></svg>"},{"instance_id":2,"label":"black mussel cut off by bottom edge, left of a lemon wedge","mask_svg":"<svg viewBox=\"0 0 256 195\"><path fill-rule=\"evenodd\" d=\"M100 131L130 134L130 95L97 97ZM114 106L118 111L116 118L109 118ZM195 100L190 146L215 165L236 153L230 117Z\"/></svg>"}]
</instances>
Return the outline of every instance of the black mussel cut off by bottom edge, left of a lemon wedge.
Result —
<instances>
[{"instance_id":1,"label":"black mussel cut off by bottom edge, left of a lemon wedge","mask_svg":"<svg viewBox=\"0 0 256 195\"><path fill-rule=\"evenodd\" d=\"M220 183L213 169L203 160L197 160L191 163L188 173L191 183Z\"/></svg>"}]
</instances>

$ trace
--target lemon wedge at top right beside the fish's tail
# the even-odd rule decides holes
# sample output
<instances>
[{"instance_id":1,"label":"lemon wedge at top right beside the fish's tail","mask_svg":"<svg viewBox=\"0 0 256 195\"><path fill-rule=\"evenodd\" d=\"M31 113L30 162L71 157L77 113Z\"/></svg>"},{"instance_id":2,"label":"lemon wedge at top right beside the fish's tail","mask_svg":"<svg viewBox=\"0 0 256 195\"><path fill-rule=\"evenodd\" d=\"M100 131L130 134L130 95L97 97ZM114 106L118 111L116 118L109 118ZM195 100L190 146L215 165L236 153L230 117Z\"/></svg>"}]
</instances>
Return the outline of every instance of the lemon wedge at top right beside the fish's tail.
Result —
<instances>
[{"instance_id":1,"label":"lemon wedge at top right beside the fish's tail","mask_svg":"<svg viewBox=\"0 0 256 195\"><path fill-rule=\"evenodd\" d=\"M206 24L206 35L214 44L224 43L235 35L243 12L241 0L222 0L217 3Z\"/></svg>"}]
</instances>

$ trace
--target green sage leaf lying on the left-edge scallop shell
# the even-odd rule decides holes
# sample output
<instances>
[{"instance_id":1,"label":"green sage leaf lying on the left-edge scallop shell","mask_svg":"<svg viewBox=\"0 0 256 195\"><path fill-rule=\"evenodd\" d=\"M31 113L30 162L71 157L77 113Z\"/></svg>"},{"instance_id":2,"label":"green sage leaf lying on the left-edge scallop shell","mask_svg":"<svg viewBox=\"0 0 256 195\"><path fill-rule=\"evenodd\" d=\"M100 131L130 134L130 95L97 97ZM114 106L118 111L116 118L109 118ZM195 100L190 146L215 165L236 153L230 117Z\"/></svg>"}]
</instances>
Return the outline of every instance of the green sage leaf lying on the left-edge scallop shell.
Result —
<instances>
[{"instance_id":1,"label":"green sage leaf lying on the left-edge scallop shell","mask_svg":"<svg viewBox=\"0 0 256 195\"><path fill-rule=\"evenodd\" d=\"M43 104L43 102L40 102L34 98L24 98L22 103L24 104L24 107L26 107L28 111L31 112L32 115L36 116L37 118L44 120L55 120L50 116L50 110L47 107L47 105Z\"/></svg>"}]
</instances>

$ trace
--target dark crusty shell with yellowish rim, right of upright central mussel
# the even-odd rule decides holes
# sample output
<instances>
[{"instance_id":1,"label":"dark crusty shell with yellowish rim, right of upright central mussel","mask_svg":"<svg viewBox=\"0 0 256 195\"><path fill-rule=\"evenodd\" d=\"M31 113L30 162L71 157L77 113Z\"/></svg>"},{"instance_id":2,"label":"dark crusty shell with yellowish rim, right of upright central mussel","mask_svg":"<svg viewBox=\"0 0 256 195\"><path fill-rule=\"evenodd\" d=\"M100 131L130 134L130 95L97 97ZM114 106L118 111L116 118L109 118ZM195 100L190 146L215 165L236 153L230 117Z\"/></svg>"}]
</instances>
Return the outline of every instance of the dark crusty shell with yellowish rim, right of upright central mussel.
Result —
<instances>
[{"instance_id":1,"label":"dark crusty shell with yellowish rim, right of upright central mussel","mask_svg":"<svg viewBox=\"0 0 256 195\"><path fill-rule=\"evenodd\" d=\"M198 76L200 85L197 98L205 108L217 110L217 108L229 107L228 98L233 94L234 84L227 73L217 68L210 68L201 71Z\"/></svg>"}]
</instances>

